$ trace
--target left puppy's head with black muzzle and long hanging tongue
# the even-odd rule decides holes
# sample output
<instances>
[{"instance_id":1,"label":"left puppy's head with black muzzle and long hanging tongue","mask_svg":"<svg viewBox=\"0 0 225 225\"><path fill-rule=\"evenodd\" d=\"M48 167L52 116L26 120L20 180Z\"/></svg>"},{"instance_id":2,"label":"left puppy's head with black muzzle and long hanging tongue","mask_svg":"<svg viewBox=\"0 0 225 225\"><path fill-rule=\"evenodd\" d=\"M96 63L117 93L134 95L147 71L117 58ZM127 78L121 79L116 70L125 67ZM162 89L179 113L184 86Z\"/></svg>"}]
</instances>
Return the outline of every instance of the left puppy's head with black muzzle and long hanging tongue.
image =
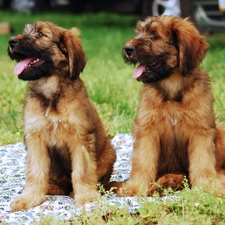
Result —
<instances>
[{"instance_id":1,"label":"left puppy's head with black muzzle and long hanging tongue","mask_svg":"<svg viewBox=\"0 0 225 225\"><path fill-rule=\"evenodd\" d=\"M22 34L10 38L8 54L19 63L14 73L22 80L58 74L76 79L86 59L76 28L63 29L51 22L27 24Z\"/></svg>"}]
</instances>

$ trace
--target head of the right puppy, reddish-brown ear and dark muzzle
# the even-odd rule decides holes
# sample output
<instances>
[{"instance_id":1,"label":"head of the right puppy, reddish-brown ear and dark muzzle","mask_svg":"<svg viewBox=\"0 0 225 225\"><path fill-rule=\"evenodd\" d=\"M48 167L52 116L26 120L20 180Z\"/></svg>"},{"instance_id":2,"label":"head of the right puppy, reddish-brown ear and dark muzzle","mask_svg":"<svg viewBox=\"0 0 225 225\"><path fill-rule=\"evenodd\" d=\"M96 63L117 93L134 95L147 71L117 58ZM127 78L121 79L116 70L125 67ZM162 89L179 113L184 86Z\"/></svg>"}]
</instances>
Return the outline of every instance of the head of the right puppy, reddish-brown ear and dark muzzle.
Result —
<instances>
[{"instance_id":1,"label":"head of the right puppy, reddish-brown ear and dark muzzle","mask_svg":"<svg viewBox=\"0 0 225 225\"><path fill-rule=\"evenodd\" d=\"M133 77L144 83L162 80L178 69L187 75L208 49L197 29L179 17L148 17L137 23L135 31L136 36L124 45L123 58L139 64Z\"/></svg>"}]
</instances>

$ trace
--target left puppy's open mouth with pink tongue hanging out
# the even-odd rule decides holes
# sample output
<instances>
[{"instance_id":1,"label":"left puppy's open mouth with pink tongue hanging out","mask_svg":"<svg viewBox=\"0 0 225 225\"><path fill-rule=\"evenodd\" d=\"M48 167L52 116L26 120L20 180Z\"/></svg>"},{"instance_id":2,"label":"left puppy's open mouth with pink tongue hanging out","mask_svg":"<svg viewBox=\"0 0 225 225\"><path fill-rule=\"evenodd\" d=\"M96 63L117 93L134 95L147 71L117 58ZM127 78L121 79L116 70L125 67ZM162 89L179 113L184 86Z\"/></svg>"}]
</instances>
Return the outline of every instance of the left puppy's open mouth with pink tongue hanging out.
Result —
<instances>
[{"instance_id":1,"label":"left puppy's open mouth with pink tongue hanging out","mask_svg":"<svg viewBox=\"0 0 225 225\"><path fill-rule=\"evenodd\" d=\"M40 66L44 62L45 62L45 60L41 59L41 58L26 58L16 65L16 67L14 69L14 74L20 75L25 70L31 69L34 66Z\"/></svg>"}]
</instances>

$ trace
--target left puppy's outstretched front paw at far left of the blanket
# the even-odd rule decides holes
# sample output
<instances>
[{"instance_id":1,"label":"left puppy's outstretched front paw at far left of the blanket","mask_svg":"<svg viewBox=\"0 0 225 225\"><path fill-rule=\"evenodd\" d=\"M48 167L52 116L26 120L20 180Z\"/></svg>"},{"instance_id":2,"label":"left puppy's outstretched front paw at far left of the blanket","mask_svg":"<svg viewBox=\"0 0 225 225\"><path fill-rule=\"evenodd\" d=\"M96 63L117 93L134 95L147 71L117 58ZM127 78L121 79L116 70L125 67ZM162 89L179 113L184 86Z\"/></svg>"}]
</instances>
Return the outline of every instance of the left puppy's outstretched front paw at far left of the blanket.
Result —
<instances>
[{"instance_id":1,"label":"left puppy's outstretched front paw at far left of the blanket","mask_svg":"<svg viewBox=\"0 0 225 225\"><path fill-rule=\"evenodd\" d=\"M13 212L30 209L34 206L40 205L45 201L45 196L30 196L30 197L18 197L14 200L10 207Z\"/></svg>"}]
</instances>

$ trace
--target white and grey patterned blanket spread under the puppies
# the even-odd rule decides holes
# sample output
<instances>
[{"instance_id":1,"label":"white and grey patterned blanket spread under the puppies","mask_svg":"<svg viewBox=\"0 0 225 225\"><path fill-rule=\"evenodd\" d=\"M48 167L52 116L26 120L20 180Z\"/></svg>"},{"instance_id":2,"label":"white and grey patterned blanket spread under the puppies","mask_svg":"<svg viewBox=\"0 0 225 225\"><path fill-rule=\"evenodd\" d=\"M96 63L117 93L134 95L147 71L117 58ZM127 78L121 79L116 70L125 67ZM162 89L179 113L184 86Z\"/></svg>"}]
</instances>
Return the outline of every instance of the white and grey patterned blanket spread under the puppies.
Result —
<instances>
[{"instance_id":1,"label":"white and grey patterned blanket spread under the puppies","mask_svg":"<svg viewBox=\"0 0 225 225\"><path fill-rule=\"evenodd\" d=\"M111 181L124 181L129 178L131 170L130 158L133 150L133 138L130 134L117 134L112 139L117 152L117 161ZM82 215L82 207L76 207L68 196L47 196L47 200L39 206L11 212L10 203L23 190L25 184L26 150L23 143L0 147L0 224L31 224L42 216L53 216L62 220L71 220L74 215ZM153 200L149 198L149 200ZM127 207L135 212L139 207L134 197L118 198L110 195L107 204ZM86 204L85 210L91 210L95 203Z\"/></svg>"}]
</instances>

